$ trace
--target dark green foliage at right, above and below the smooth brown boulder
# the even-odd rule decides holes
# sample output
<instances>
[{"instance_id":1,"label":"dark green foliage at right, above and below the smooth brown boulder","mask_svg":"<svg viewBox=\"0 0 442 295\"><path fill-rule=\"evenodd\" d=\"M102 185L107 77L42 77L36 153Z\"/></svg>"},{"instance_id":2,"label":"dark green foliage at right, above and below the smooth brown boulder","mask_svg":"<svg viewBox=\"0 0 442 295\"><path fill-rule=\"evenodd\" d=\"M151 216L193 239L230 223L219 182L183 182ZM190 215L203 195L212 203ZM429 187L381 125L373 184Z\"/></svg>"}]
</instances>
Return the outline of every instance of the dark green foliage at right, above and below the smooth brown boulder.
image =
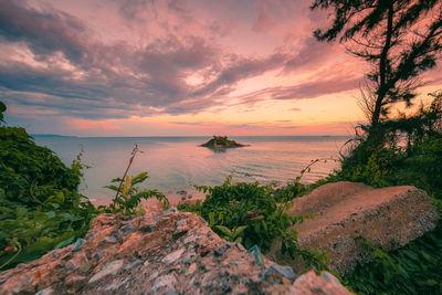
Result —
<instances>
[{"instance_id":1,"label":"dark green foliage at right, above and below the smooth brown boulder","mask_svg":"<svg viewBox=\"0 0 442 295\"><path fill-rule=\"evenodd\" d=\"M430 105L394 120L382 122L383 141L367 144L370 126L361 126L356 145L343 158L335 173L340 180L361 181L373 187L411 185L429 192L442 212L442 93L431 94ZM367 243L366 243L367 244ZM372 262L358 266L345 283L364 294L441 294L442 222L436 229L393 252L375 247Z\"/></svg>"}]
</instances>

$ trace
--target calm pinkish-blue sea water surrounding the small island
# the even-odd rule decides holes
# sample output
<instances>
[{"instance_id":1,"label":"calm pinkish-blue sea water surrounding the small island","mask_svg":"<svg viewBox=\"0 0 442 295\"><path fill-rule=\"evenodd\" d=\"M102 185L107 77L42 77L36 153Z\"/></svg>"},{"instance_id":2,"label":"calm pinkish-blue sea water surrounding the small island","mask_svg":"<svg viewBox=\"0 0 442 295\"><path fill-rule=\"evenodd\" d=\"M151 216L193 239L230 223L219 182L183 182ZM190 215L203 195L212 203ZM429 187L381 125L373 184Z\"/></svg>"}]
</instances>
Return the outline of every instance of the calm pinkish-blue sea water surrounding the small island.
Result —
<instances>
[{"instance_id":1,"label":"calm pinkish-blue sea water surrounding the small island","mask_svg":"<svg viewBox=\"0 0 442 295\"><path fill-rule=\"evenodd\" d=\"M225 150L199 147L208 137L39 137L38 145L54 150L67 165L83 150L83 162L92 166L84 173L82 192L96 203L108 202L114 193L103 188L110 179L122 177L135 144L137 154L129 175L148 171L150 178L143 188L156 188L172 201L177 191L186 190L193 198L201 193L192 185L214 186L229 175L238 181L263 183L295 179L311 160L337 158L346 137L284 136L232 137L250 146ZM302 182L313 182L333 171L338 164L316 164Z\"/></svg>"}]
</instances>

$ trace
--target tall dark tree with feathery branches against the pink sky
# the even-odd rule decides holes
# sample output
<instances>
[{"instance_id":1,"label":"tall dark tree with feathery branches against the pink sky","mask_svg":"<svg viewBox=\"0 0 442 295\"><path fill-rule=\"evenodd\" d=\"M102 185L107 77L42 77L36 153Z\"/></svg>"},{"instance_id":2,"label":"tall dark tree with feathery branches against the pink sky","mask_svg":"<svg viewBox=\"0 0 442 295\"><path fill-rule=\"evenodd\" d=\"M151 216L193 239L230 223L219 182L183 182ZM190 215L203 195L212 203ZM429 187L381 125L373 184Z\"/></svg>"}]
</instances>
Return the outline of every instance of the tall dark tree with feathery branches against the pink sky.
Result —
<instances>
[{"instance_id":1,"label":"tall dark tree with feathery branches against the pink sky","mask_svg":"<svg viewBox=\"0 0 442 295\"><path fill-rule=\"evenodd\" d=\"M347 43L348 52L371 65L361 106L376 130L369 137L375 138L390 107L397 102L410 105L422 85L417 77L436 65L442 53L442 3L314 0L312 9L334 12L332 25L315 31L319 41L339 38L339 42Z\"/></svg>"}]
</instances>

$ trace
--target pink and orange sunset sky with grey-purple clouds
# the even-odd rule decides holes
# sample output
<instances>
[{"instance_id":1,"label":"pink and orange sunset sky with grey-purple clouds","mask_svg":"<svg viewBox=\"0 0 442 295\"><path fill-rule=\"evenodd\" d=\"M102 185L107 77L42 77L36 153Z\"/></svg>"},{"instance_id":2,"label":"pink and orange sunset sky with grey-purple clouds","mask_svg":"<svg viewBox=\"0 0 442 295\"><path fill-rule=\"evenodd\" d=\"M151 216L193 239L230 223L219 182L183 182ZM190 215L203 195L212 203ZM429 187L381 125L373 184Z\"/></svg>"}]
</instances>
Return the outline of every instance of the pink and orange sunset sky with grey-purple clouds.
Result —
<instances>
[{"instance_id":1,"label":"pink and orange sunset sky with grey-purple clouds","mask_svg":"<svg viewBox=\"0 0 442 295\"><path fill-rule=\"evenodd\" d=\"M311 4L0 0L6 120L73 136L351 135L367 65L313 38L328 20Z\"/></svg>"}]
</instances>

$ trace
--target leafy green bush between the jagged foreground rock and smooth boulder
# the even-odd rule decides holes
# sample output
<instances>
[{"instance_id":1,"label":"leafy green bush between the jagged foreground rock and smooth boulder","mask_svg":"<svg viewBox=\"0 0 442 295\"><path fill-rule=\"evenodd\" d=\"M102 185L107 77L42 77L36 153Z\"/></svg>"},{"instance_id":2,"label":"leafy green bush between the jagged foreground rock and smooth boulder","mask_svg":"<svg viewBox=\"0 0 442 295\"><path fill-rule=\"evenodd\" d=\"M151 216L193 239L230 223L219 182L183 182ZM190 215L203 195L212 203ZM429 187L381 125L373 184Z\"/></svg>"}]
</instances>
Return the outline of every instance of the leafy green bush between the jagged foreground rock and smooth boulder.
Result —
<instances>
[{"instance_id":1,"label":"leafy green bush between the jagged foreground rock and smooth boulder","mask_svg":"<svg viewBox=\"0 0 442 295\"><path fill-rule=\"evenodd\" d=\"M278 239L283 253L292 257L302 255L308 266L317 270L326 267L325 254L304 251L297 245L297 233L291 228L311 217L286 212L293 206L293 192L285 197L280 192L275 198L273 186L232 183L231 176L221 186L197 189L207 193L206 200L196 204L182 203L178 209L201 215L220 235L241 242L248 249L256 244L263 251Z\"/></svg>"}]
</instances>

